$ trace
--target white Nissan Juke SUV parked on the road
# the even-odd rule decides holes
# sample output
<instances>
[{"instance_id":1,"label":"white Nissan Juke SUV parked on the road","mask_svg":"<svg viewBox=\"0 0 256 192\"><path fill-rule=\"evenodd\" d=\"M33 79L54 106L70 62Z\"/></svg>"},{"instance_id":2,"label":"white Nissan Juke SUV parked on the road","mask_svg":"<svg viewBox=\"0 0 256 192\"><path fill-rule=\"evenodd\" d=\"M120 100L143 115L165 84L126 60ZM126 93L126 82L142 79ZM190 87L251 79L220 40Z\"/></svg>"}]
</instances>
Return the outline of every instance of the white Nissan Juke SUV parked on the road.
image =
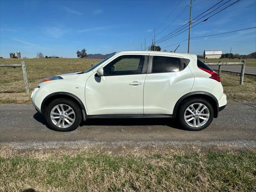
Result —
<instances>
[{"instance_id":1,"label":"white Nissan Juke SUV parked on the road","mask_svg":"<svg viewBox=\"0 0 256 192\"><path fill-rule=\"evenodd\" d=\"M178 118L202 130L227 102L220 76L196 55L155 51L119 52L85 72L44 78L31 98L58 131L89 118Z\"/></svg>"}]
</instances>

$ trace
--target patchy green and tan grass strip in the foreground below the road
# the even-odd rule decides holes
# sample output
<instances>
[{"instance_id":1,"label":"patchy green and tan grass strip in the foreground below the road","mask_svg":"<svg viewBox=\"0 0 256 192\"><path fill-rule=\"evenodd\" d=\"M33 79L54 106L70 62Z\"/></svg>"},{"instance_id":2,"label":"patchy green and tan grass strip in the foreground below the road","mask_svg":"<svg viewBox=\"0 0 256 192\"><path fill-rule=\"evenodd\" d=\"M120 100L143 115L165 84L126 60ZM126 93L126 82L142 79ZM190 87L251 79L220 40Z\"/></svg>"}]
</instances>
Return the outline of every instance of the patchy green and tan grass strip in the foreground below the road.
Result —
<instances>
[{"instance_id":1,"label":"patchy green and tan grass strip in the foreground below the road","mask_svg":"<svg viewBox=\"0 0 256 192\"><path fill-rule=\"evenodd\" d=\"M2 192L249 192L256 190L256 152L224 146L2 148L0 183Z\"/></svg>"}]
</instances>

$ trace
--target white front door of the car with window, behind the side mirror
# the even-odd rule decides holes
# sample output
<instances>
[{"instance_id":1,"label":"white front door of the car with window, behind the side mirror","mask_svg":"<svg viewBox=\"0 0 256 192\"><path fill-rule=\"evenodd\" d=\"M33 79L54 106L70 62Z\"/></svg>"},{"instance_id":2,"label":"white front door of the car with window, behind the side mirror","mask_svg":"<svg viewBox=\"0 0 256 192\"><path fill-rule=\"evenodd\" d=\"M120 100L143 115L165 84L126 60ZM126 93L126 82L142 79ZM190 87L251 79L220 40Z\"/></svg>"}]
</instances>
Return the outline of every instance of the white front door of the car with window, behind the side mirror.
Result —
<instances>
[{"instance_id":1,"label":"white front door of the car with window, behind the side mirror","mask_svg":"<svg viewBox=\"0 0 256 192\"><path fill-rule=\"evenodd\" d=\"M143 114L143 86L149 54L120 55L104 64L104 76L90 76L85 98L89 115Z\"/></svg>"}]
</instances>

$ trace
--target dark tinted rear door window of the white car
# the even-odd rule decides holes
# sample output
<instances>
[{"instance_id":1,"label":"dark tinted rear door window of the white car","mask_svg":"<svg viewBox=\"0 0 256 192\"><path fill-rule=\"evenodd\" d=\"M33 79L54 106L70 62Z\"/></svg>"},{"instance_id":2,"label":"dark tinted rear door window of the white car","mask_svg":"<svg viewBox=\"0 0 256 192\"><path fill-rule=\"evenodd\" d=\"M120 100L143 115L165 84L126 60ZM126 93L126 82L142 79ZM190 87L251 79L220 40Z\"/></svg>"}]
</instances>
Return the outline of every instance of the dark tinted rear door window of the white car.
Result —
<instances>
[{"instance_id":1,"label":"dark tinted rear door window of the white car","mask_svg":"<svg viewBox=\"0 0 256 192\"><path fill-rule=\"evenodd\" d=\"M177 72L180 70L180 59L176 57L154 56L152 73Z\"/></svg>"}]
</instances>

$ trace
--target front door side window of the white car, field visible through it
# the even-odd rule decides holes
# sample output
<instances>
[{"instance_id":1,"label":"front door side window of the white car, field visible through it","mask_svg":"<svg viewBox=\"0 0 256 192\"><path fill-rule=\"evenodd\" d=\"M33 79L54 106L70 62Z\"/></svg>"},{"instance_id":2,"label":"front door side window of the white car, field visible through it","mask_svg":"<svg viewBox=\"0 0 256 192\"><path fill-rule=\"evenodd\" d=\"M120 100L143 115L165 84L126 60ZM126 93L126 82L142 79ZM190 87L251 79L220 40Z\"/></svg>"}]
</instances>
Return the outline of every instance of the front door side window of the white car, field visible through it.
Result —
<instances>
[{"instance_id":1,"label":"front door side window of the white car, field visible through it","mask_svg":"<svg viewBox=\"0 0 256 192\"><path fill-rule=\"evenodd\" d=\"M120 56L103 68L104 76L141 74L145 56Z\"/></svg>"}]
</instances>

